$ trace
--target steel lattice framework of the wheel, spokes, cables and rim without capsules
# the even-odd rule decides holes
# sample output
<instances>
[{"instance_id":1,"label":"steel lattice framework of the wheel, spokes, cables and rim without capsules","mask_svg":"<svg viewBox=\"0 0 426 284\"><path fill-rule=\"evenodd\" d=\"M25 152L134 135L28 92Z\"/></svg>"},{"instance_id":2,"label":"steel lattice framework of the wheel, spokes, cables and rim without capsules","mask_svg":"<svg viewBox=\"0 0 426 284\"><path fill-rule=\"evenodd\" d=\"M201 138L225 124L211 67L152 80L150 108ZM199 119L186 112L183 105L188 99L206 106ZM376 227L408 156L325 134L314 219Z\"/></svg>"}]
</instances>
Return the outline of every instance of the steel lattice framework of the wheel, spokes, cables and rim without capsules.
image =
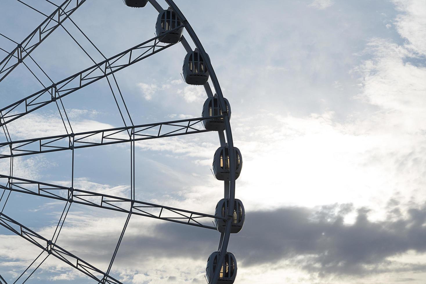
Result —
<instances>
[{"instance_id":1,"label":"steel lattice framework of the wheel, spokes, cables and rim without capsules","mask_svg":"<svg viewBox=\"0 0 426 284\"><path fill-rule=\"evenodd\" d=\"M17 0L23 3L21 0ZM46 0L51 3L50 1ZM48 37L56 28L61 26L65 31L72 37L72 35L63 27L62 23L66 19L69 19L77 28L78 26L71 20L70 15L78 9L86 0L66 0L62 3L62 5L57 6L57 9L50 15L47 16L42 12L32 8L26 3L26 6L36 10L37 12L46 16L46 20L40 24L25 40L23 40L20 44L17 44L17 47L14 48L12 52L10 52L5 59L0 62L0 82L6 78L13 69L23 63L26 68L36 77L36 79L43 85L43 83L37 78L37 76L32 72L32 70L23 62L26 57L30 57L33 61L34 59L29 55L35 48L37 48L40 43L46 37ZM149 0L150 3L157 9L159 12L163 11L163 8L155 1ZM139 45L134 46L126 51L123 51L119 54L116 54L113 57L106 58L101 51L89 40L89 38L78 28L79 31L86 37L87 40L96 48L96 50L104 57L104 61L96 63L92 57L82 48L82 46L75 40L74 37L72 39L78 44L78 46L83 49L87 56L95 63L93 66L86 68L83 71L80 71L72 76L69 76L59 82L53 82L52 85L46 87L43 85L43 89L35 92L34 94L29 95L23 99L18 100L6 107L0 109L0 126L3 128L3 131L6 135L7 142L0 143L0 159L8 158L10 159L10 171L9 175L0 174L0 188L3 189L3 193L0 197L0 202L3 198L5 198L5 202L3 208L0 212L0 225L6 227L13 233L23 237L27 241L35 244L37 247L42 249L42 253L37 257L39 258L44 252L48 255L55 256L60 260L66 262L82 273L86 274L90 278L98 281L98 283L111 283L111 284L119 284L120 281L112 278L109 273L111 271L111 267L115 256L117 254L118 248L121 244L121 241L124 236L124 232L127 228L127 224L129 223L130 217L132 215L140 215L146 216L155 219L161 219L170 222L176 222L180 224L189 224L196 227L204 227L207 229L214 229L216 227L211 226L210 223L214 219L222 219L226 220L226 229L225 233L222 233L220 241L219 241L219 259L217 263L217 267L221 267L224 261L225 253L227 252L227 246L230 238L230 229L232 225L232 216L233 216L233 204L235 199L235 160L234 160L234 151L233 151L233 139L230 128L229 116L227 113L227 109L225 107L225 100L223 98L223 94L219 85L219 81L216 77L216 74L213 70L213 66L207 56L201 42L196 36L193 28L190 26L184 15L178 9L176 4L172 0L166 0L167 4L176 12L178 18L181 20L182 25L178 26L168 32L173 32L179 28L184 27L191 39L198 48L201 56L204 58L204 62L206 63L207 71L210 74L210 79L213 82L214 90L219 98L220 107L222 109L221 116L225 122L225 132L219 131L219 141L221 146L226 146L230 148L230 181L224 182L224 196L225 198L229 198L229 207L227 212L227 218L222 218L218 216L213 216L210 214L193 212L190 210L183 210L173 207L167 207L164 205L152 204L148 202L142 202L135 200L135 179L134 179L134 171L135 171L135 142L141 141L145 139L156 139L162 137L170 137L170 136L178 136L178 135L186 135L186 134L194 134L207 132L207 130L200 127L200 122L202 122L202 118L193 118L193 119L184 119L184 120L176 120L170 122L159 122L145 125L134 125L130 114L127 110L127 106L125 105L124 98L121 94L121 91L118 87L118 83L115 80L114 73L119 71L127 66L130 66L136 62L139 62L153 54L156 54L171 45L174 44L161 44L160 39L164 37L164 34L158 37L154 37L150 40L145 41ZM167 33L168 33L167 32ZM166 34L167 34L166 33ZM3 37L3 34L0 34ZM8 38L8 37L6 37ZM9 39L9 38L8 38ZM10 40L10 39L9 39ZM13 41L13 40L12 40ZM16 42L15 42L16 43ZM188 44L187 40L182 36L181 43L184 48L189 52L192 51L192 48ZM3 50L3 49L2 49ZM4 50L3 50L4 51ZM12 60L16 59L16 60ZM34 61L35 62L35 61ZM36 63L36 62L35 62ZM36 63L36 65L41 67ZM43 73L47 76L47 74L43 71ZM47 76L48 77L48 76ZM127 126L124 116L126 112L121 111L120 106L118 104L117 97L113 91L111 82L109 78L113 78L115 81L115 85L118 88L118 92L120 93L122 103L126 108L126 112L128 118L130 119L131 126ZM49 77L48 77L49 78ZM65 97L68 94L72 94L79 89L101 80L102 78L106 78L108 80L109 86L111 88L112 94L114 96L115 102L117 103L118 110L120 111L121 118L125 124L125 127L120 128L111 128L104 129L98 131L88 131L83 133L72 133L72 127L69 123L68 116L66 115L66 110L63 106L62 97ZM49 78L50 80L50 78ZM210 85L207 82L204 85L208 97L213 97L213 92L210 89ZM63 120L64 127L66 129L67 134L58 135L58 136L49 136L49 137L41 137L35 139L25 139L19 141L13 141L7 130L7 124L9 122L14 121L15 119L19 119L26 114L31 113L39 108L42 108L45 105L48 105L52 102L55 102L58 106L58 111ZM58 103L59 102L59 103ZM62 110L60 109L62 107ZM124 114L124 115L123 115ZM65 119L68 122L70 131L68 131L68 127L66 126ZM226 140L225 140L226 137ZM101 193L95 193L86 190L79 190L74 188L74 151L78 148L87 148L94 147L100 145L110 145L117 143L130 143L131 148L131 198L123 198L118 196L110 196ZM10 154L1 153L3 149L8 149ZM63 187L60 185L49 184L45 182L38 182L28 179L21 179L19 177L13 176L13 159L15 156L26 156L33 155L38 153L48 153L55 151L72 151L72 187ZM4 207L9 199L9 196L12 192L43 196L50 199L56 199L66 202L64 207L62 216L59 219L58 226L55 230L54 236L52 240L45 239L44 237L38 235L34 231L30 230L28 227L23 226L16 220L6 216L3 213ZM85 204L92 207L99 207L108 210L114 210L119 212L128 213L127 220L124 224L124 228L121 232L121 236L118 239L117 246L115 247L115 251L109 263L109 267L107 272L102 272L98 270L96 267L88 264L87 262L81 260L77 256L74 256L72 253L64 250L56 244L56 240L58 239L60 230L62 229L63 223L65 222L65 218L68 214L69 208L72 203ZM68 206L68 209L67 209ZM36 260L37 260L36 258ZM46 258L43 259L46 260ZM35 260L35 261L36 261ZM33 261L32 264L35 263ZM35 270L40 267L41 263L35 268ZM24 273L32 266L30 266L20 275L23 276ZM33 272L26 278L29 277L35 272ZM217 279L219 278L220 270L217 269L210 281L210 284L216 284ZM20 278L19 277L19 278ZM18 278L18 279L19 279ZM25 281L26 281L25 280ZM6 280L0 275L0 283L6 283ZM24 282L25 282L24 281Z\"/></svg>"}]
</instances>

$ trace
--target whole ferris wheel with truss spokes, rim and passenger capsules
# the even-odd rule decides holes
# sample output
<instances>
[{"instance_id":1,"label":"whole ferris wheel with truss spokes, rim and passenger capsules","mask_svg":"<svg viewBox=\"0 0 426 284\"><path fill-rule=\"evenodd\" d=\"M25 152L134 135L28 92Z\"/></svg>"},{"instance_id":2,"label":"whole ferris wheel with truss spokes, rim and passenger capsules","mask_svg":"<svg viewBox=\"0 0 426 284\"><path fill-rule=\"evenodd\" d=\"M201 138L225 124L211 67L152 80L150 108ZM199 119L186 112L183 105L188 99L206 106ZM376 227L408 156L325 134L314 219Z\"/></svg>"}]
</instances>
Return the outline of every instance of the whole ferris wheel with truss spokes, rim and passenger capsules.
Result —
<instances>
[{"instance_id":1,"label":"whole ferris wheel with truss spokes, rim and passenger capsules","mask_svg":"<svg viewBox=\"0 0 426 284\"><path fill-rule=\"evenodd\" d=\"M20 0L17 1L23 3ZM30 60L47 76L46 72L43 71L40 65L37 64L35 59L31 56L32 51L38 48L56 28L61 27L64 21L72 21L70 16L78 9L83 9L80 7L90 0L65 0L58 5L49 0L45 1L56 6L55 11L50 15L43 14L31 7L28 3L23 3L33 10L45 15L46 18L22 42L15 42L0 30L1 37L16 44L16 47L12 51L1 49L1 52L5 52L5 57L0 57L0 85L2 81L7 80L7 76L20 64L25 65L37 78L35 73L32 72L25 63ZM16 102L10 103L3 101L3 99L1 100L0 127L4 132L6 142L0 143L0 159L9 161L9 172L0 173L0 225L39 247L42 253L40 253L37 258L40 258L43 253L45 255L47 254L46 258L55 257L71 267L74 267L76 270L79 270L89 278L92 278L93 283L104 284L122 283L110 274L115 256L117 255L130 216L132 215L175 222L182 226L196 226L199 227L200 230L201 228L217 230L221 233L218 250L213 252L210 256L205 256L207 259L206 280L209 284L232 284L236 279L237 262L233 253L227 250L228 243L231 234L238 233L242 229L245 221L245 210L242 202L239 199L235 199L235 180L239 177L242 170L242 155L239 149L233 145L230 127L230 103L223 97L219 81L210 62L210 57L204 50L203 45L201 45L190 23L188 23L184 14L182 14L173 0L165 0L168 5L167 9L164 9L156 0L123 0L123 2L129 9L131 9L130 7L145 7L148 2L153 5L159 13L155 23L155 37L112 57L104 57L104 60L101 62L94 61L94 65L88 68L84 67L82 71L66 77L63 80L58 82L53 82L51 80L51 85L43 85L37 78L40 84L43 85L43 88ZM144 9L138 11L144 13ZM78 28L73 21L72 23ZM184 29L189 35L192 43L188 42L189 39L187 40L183 36ZM78 28L78 30L89 40L80 28ZM75 40L72 34L69 33L69 35ZM75 41L78 43L77 40ZM92 43L90 40L89 42ZM121 94L118 82L115 78L115 73L179 43L184 46L187 52L186 56L182 57L184 61L182 67L184 81L190 85L203 85L207 94L207 99L201 109L201 116L175 121L138 124L131 119L130 113L124 102L125 96ZM98 50L93 43L92 45ZM192 48L191 45L195 45L195 48ZM79 46L81 47L81 45ZM101 53L101 51L99 52ZM179 73L180 70L176 70L176 72ZM111 85L117 87L118 94L114 94L112 87L111 91L114 95L115 102L117 102L118 110L120 111L125 126L74 133L62 98L65 96L72 96L74 92L98 80L107 80L110 87ZM213 89L211 89L210 83L213 85ZM120 108L118 101L122 102L124 108ZM13 137L13 133L9 132L8 129L10 122L15 120L19 121L21 117L49 104L58 107L66 133L56 136L12 140L11 137ZM130 119L130 123L126 123L127 120L124 119L124 116ZM191 210L144 202L135 198L135 142L140 143L143 140L161 139L171 136L196 135L197 133L208 131L216 131L219 136L219 148L216 150L213 157L213 172L216 179L224 182L224 198L219 200L214 213L193 212ZM130 199L75 188L75 153L78 153L80 148L102 147L104 145L118 143L127 143L127 145L130 145L131 149L130 175L132 176L132 182ZM71 153L71 187L14 176L14 158L58 151L68 151ZM6 211L4 211L6 203L13 199L15 195L19 194L41 196L46 199L54 199L64 203L65 207L63 208L62 215L59 218L58 225L56 226L52 238L49 239L46 236L41 236L31 230L29 228L31 224L25 224L25 220L16 220L6 215ZM82 258L70 253L66 250L66 247L61 247L57 244L58 236L64 222L66 222L66 216L73 203L112 210L112 212L118 211L127 213L126 222L121 235L118 237L117 245L106 271L99 270ZM44 260L46 258L44 258ZM41 263L43 263L43 261L41 261ZM31 279L31 277L34 276L34 272L41 265L40 263L37 267L33 267L34 263L35 261L33 261L13 283L16 283L18 280L25 283ZM0 275L0 284L9 284L9 282L6 281L5 277Z\"/></svg>"}]
</instances>

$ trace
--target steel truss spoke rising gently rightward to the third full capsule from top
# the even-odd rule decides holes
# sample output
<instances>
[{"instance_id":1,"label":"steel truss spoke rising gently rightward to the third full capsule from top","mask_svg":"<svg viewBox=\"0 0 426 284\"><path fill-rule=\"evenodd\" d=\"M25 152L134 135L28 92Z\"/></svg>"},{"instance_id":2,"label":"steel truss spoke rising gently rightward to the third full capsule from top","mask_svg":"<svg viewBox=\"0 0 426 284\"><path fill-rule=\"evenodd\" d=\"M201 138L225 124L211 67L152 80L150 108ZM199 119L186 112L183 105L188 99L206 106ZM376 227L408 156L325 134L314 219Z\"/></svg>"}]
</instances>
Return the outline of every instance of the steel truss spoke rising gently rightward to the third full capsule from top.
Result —
<instances>
[{"instance_id":1,"label":"steel truss spoke rising gently rightward to the third full capsule from top","mask_svg":"<svg viewBox=\"0 0 426 284\"><path fill-rule=\"evenodd\" d=\"M221 116L211 117L217 118ZM4 150L4 152L7 150L8 154L0 154L0 159L9 158L11 156L26 156L39 153L49 153L93 146L208 132L209 130L204 128L196 128L196 125L200 125L203 120L204 118L199 117L81 133L69 133L20 141L3 142L0 143L0 153L2 150Z\"/></svg>"}]
</instances>

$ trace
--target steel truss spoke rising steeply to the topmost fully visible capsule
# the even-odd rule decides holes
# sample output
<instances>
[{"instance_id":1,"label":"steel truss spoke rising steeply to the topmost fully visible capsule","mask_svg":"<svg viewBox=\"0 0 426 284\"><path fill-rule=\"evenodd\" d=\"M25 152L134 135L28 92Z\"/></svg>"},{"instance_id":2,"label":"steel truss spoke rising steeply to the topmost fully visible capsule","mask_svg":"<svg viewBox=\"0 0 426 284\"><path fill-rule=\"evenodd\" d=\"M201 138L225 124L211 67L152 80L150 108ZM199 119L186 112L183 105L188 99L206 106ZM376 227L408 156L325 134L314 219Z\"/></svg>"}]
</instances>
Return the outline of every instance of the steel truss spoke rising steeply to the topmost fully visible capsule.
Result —
<instances>
[{"instance_id":1,"label":"steel truss spoke rising steeply to the topmost fully visible capsule","mask_svg":"<svg viewBox=\"0 0 426 284\"><path fill-rule=\"evenodd\" d=\"M173 32L184 25L173 28L167 33ZM154 37L139 45L136 45L126 51L114 55L98 64L95 64L83 71L80 71L66 79L63 79L51 86L44 88L26 98L20 99L17 102L0 109L0 126L5 125L21 116L29 114L36 109L42 108L57 99L65 97L93 82L96 82L109 74L113 74L127 66L139 62L159 51L162 51L175 43L168 45L160 45L159 38L164 37L167 33L161 36ZM18 106L22 106L25 110L15 113ZM3 120L3 122L2 122Z\"/></svg>"}]
</instances>

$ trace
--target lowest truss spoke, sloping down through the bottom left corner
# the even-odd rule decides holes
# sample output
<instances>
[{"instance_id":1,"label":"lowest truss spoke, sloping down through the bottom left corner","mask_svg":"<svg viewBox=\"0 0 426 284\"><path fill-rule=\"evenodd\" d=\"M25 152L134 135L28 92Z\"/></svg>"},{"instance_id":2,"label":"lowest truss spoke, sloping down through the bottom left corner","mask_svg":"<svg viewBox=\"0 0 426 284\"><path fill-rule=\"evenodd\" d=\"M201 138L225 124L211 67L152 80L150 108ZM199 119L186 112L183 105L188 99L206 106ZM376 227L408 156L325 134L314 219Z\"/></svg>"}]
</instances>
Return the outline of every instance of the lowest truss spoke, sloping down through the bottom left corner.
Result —
<instances>
[{"instance_id":1,"label":"lowest truss spoke, sloping down through the bottom left corner","mask_svg":"<svg viewBox=\"0 0 426 284\"><path fill-rule=\"evenodd\" d=\"M87 276L96 281L101 281L101 279L105 277L107 279L106 283L122 284L117 279L109 276L107 273L102 272L101 270L92 266L86 261L83 261L81 258L78 258L67 250L64 250L57 244L52 243L51 240L40 236L33 230L29 229L28 227L25 227L23 224L20 224L19 222L15 221L4 213L0 213L0 225L17 234L18 236L21 236L23 239L26 239L37 247L40 247L41 249L49 253L49 255L55 256L56 258L69 264L70 266L81 271L82 273L86 274Z\"/></svg>"}]
</instances>

